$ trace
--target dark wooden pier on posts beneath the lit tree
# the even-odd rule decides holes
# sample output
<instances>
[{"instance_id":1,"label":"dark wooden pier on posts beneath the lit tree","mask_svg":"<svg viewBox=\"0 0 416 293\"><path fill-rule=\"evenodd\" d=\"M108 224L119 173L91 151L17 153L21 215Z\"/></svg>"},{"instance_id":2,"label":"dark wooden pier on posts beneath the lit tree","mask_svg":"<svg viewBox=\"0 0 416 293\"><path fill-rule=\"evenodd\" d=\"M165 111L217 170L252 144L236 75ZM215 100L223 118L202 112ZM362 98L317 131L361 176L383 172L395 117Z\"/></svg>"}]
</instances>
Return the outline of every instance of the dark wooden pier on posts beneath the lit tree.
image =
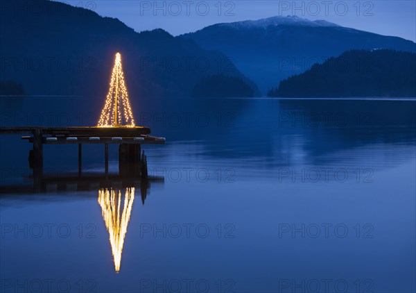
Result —
<instances>
[{"instance_id":1,"label":"dark wooden pier on posts beneath the lit tree","mask_svg":"<svg viewBox=\"0 0 416 293\"><path fill-rule=\"evenodd\" d=\"M1 127L0 135L24 135L33 144L29 165L42 175L44 144L78 144L78 173L82 173L82 145L104 144L105 175L108 144L119 144L119 175L147 178L147 160L141 144L164 144L164 137L150 136L150 128L135 127Z\"/></svg>"}]
</instances>

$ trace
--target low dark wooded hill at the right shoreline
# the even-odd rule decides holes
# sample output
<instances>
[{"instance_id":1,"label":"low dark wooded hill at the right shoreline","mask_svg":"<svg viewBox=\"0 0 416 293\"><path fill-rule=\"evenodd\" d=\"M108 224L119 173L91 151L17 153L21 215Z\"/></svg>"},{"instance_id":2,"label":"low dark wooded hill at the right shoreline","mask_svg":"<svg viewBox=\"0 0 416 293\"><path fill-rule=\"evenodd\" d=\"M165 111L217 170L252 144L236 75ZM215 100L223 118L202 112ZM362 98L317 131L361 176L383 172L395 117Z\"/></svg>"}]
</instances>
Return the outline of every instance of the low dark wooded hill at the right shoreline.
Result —
<instances>
[{"instance_id":1,"label":"low dark wooded hill at the right shoreline","mask_svg":"<svg viewBox=\"0 0 416 293\"><path fill-rule=\"evenodd\" d=\"M416 97L416 53L347 51L291 76L270 97Z\"/></svg>"}]
</instances>

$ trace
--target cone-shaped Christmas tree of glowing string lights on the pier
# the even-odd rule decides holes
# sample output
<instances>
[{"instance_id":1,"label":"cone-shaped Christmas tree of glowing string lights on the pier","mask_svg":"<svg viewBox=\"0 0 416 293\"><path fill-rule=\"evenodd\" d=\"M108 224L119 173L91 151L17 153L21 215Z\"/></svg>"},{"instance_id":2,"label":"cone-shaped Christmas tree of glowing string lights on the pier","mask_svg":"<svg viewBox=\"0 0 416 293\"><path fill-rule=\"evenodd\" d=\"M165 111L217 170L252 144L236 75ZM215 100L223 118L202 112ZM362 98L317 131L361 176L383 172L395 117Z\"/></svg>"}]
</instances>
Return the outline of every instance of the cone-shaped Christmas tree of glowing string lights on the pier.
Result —
<instances>
[{"instance_id":1,"label":"cone-shaped Christmas tree of glowing string lights on the pier","mask_svg":"<svg viewBox=\"0 0 416 293\"><path fill-rule=\"evenodd\" d=\"M110 90L101 112L98 126L135 126L132 108L128 99L127 87L125 86L123 67L121 66L121 55L116 53L116 60L112 70Z\"/></svg>"}]
</instances>

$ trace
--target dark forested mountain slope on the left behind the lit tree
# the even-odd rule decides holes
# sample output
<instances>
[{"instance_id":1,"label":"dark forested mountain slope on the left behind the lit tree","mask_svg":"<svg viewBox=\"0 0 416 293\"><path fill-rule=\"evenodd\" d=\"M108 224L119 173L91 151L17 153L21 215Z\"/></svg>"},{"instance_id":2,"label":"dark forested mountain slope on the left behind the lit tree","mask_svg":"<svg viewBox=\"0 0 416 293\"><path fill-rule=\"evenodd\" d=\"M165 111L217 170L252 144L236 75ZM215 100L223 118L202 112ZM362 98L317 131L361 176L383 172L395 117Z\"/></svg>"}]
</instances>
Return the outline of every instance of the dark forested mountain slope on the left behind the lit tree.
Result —
<instances>
[{"instance_id":1,"label":"dark forested mountain slope on the left behind the lit tree","mask_svg":"<svg viewBox=\"0 0 416 293\"><path fill-rule=\"evenodd\" d=\"M257 90L223 53L162 29L136 33L119 19L55 1L0 1L0 6L0 81L15 81L29 95L101 100L117 51L133 100L191 97L193 87L213 74L241 78Z\"/></svg>"}]
</instances>

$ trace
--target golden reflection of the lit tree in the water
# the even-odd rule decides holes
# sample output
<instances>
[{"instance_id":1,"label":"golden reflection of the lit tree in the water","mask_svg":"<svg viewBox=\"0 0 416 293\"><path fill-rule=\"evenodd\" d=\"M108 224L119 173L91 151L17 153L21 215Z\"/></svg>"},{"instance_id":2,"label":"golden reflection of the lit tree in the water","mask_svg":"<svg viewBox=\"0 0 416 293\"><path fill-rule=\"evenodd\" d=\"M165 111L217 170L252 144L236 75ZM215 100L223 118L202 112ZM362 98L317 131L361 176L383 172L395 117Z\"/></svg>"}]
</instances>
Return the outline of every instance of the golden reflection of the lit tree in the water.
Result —
<instances>
[{"instance_id":1,"label":"golden reflection of the lit tree in the water","mask_svg":"<svg viewBox=\"0 0 416 293\"><path fill-rule=\"evenodd\" d=\"M110 245L114 257L114 268L120 270L121 253L123 252L125 233L135 201L135 188L125 190L123 211L121 209L121 192L114 190L98 190L98 203L101 206L105 226L110 234Z\"/></svg>"}]
</instances>

